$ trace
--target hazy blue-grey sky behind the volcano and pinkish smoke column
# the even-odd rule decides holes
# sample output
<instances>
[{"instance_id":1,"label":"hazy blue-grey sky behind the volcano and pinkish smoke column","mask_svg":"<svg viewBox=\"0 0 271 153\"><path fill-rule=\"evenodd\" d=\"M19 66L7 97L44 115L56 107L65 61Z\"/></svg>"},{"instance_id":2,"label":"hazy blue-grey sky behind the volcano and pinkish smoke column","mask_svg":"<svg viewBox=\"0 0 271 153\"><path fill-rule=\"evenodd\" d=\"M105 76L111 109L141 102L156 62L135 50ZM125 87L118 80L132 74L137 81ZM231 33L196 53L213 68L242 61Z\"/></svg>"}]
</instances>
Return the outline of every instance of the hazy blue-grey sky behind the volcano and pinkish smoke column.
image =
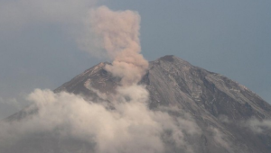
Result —
<instances>
[{"instance_id":1,"label":"hazy blue-grey sky behind the volcano and pinkish smoke column","mask_svg":"<svg viewBox=\"0 0 271 153\"><path fill-rule=\"evenodd\" d=\"M35 88L53 90L108 60L79 43L99 5L140 14L146 59L175 55L271 103L270 0L0 0L0 119L22 109Z\"/></svg>"}]
</instances>

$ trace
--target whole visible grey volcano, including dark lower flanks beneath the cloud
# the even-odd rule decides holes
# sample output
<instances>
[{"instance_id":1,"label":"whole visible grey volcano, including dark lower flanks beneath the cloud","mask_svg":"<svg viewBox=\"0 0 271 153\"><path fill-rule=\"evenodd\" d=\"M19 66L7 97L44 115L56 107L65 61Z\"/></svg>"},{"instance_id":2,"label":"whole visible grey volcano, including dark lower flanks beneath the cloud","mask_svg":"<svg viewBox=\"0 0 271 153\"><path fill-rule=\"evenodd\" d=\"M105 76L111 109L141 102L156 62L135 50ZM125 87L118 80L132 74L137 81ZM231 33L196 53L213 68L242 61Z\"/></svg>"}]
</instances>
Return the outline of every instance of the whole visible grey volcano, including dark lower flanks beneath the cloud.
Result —
<instances>
[{"instance_id":1,"label":"whole visible grey volcano, including dark lower flanks beneath the cloud","mask_svg":"<svg viewBox=\"0 0 271 153\"><path fill-rule=\"evenodd\" d=\"M87 69L54 92L80 94L93 102L99 101L99 94L114 94L121 78L107 72L105 68L107 64L110 63L99 63ZM149 62L149 69L139 85L144 85L149 92L147 105L150 110L171 108L167 109L167 112L176 118L189 114L199 127L200 132L197 135L183 132L184 140L192 145L192 149L178 148L173 145L173 142L167 142L166 145L169 147L166 152L271 152L271 129L266 123L271 119L271 106L244 85L239 85L226 76L194 67L189 62L174 56L164 56ZM21 121L39 112L33 109L25 110L27 109L15 113L6 121ZM17 146L14 149L0 145L0 150L2 147L5 152L22 151L20 147L35 144L36 148L30 147L31 149L27 148L24 152L33 152L33 150L45 152L42 151L43 144L52 148L51 152L65 152L65 150L69 152L67 148L72 145L75 146L74 148L81 148L81 144L88 146L85 142L76 139L70 141L50 139L50 135L40 135L39 139L36 137L27 140L27 143L24 141L15 144ZM73 152L79 152L74 148L72 148ZM88 148L91 147L85 147L80 151L89 152Z\"/></svg>"}]
</instances>

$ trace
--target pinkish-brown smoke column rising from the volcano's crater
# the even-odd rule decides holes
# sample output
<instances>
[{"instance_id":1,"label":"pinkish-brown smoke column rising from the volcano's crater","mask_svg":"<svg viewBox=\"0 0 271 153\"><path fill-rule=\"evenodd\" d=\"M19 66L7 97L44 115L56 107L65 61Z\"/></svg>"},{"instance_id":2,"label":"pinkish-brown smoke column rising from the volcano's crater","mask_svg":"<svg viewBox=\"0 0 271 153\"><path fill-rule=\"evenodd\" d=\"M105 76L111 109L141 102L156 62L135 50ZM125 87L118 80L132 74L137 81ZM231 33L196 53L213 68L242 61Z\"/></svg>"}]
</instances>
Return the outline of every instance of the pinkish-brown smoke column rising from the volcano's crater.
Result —
<instances>
[{"instance_id":1,"label":"pinkish-brown smoke column rising from the volcano's crater","mask_svg":"<svg viewBox=\"0 0 271 153\"><path fill-rule=\"evenodd\" d=\"M140 16L133 11L113 12L106 6L90 12L90 23L95 41L113 59L106 70L122 78L121 85L133 85L140 81L148 68L148 62L140 54Z\"/></svg>"}]
</instances>

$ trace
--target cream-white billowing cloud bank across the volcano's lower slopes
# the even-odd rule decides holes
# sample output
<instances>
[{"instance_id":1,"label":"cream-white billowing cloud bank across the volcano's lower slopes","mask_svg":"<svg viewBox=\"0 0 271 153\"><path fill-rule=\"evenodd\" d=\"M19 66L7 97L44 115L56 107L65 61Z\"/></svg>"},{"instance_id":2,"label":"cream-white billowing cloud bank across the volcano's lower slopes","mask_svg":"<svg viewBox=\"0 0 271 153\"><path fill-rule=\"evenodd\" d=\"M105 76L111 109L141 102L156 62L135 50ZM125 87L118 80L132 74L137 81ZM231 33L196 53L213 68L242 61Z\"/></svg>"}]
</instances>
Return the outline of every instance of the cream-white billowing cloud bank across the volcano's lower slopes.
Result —
<instances>
[{"instance_id":1,"label":"cream-white billowing cloud bank across the volcano's lower slopes","mask_svg":"<svg viewBox=\"0 0 271 153\"><path fill-rule=\"evenodd\" d=\"M79 95L36 89L28 98L33 105L25 111L34 114L0 124L0 151L10 144L18 147L15 144L22 139L30 143L25 147L35 148L31 142L37 133L41 139L51 133L61 139L79 139L93 145L97 153L160 153L165 152L165 143L189 148L184 133L199 134L197 125L188 118L174 119L167 112L149 110L143 89L136 85L120 91L129 101L114 103L114 109L108 109L105 102L87 102ZM51 147L47 143L42 145Z\"/></svg>"}]
</instances>

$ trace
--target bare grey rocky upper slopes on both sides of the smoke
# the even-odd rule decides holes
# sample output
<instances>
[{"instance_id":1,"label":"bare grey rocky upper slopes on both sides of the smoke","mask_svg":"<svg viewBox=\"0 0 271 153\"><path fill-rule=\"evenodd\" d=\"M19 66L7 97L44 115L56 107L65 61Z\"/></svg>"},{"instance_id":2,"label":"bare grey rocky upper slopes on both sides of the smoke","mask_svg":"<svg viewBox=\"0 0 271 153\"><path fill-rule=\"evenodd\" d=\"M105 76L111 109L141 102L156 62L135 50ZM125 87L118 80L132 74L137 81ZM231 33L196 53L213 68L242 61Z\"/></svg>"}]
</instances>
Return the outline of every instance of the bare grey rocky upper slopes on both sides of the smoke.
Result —
<instances>
[{"instance_id":1,"label":"bare grey rocky upper slopes on both sides of the smoke","mask_svg":"<svg viewBox=\"0 0 271 153\"><path fill-rule=\"evenodd\" d=\"M86 84L103 93L114 91L119 79L108 74L104 66L101 63L86 70L55 91L93 96ZM209 138L210 127L223 132L223 139L232 145L226 152L271 152L271 144L266 143L270 135L258 135L243 126L251 118L270 119L271 106L244 85L174 56L150 62L140 84L146 85L150 93L150 108L173 106L192 114L203 130L199 143L205 144L198 144L203 152L222 152Z\"/></svg>"}]
</instances>

